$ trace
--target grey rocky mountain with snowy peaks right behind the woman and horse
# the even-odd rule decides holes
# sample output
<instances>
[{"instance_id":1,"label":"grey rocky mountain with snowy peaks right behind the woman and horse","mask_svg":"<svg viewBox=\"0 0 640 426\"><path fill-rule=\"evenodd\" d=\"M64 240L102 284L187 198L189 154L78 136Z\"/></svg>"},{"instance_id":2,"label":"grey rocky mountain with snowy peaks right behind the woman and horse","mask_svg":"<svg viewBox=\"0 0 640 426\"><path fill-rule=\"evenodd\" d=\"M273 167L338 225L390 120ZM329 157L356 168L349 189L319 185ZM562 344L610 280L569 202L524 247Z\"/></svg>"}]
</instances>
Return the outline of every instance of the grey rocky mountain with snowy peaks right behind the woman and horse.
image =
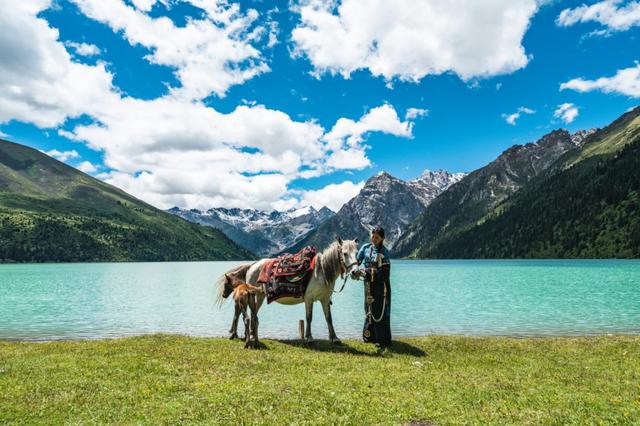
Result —
<instances>
[{"instance_id":1,"label":"grey rocky mountain with snowy peaks right behind the woman and horse","mask_svg":"<svg viewBox=\"0 0 640 426\"><path fill-rule=\"evenodd\" d=\"M464 176L464 173L427 170L419 178L405 181L380 172L369 178L360 193L342 206L335 216L287 251L293 252L310 244L325 247L336 235L365 241L378 225L385 229L385 244L391 248L409 223L434 198Z\"/></svg>"}]
</instances>

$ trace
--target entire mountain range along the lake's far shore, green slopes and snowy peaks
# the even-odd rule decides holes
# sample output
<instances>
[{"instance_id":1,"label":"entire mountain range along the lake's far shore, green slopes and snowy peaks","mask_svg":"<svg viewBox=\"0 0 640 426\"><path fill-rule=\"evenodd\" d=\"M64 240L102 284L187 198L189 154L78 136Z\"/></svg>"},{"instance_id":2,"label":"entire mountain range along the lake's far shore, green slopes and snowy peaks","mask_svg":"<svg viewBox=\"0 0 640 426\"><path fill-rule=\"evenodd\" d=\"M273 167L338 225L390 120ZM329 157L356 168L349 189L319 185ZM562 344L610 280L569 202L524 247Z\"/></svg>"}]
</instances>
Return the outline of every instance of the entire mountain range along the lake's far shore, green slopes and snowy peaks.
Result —
<instances>
[{"instance_id":1,"label":"entire mountain range along the lake's far shore, green slopes and snowy peaks","mask_svg":"<svg viewBox=\"0 0 640 426\"><path fill-rule=\"evenodd\" d=\"M163 212L0 141L0 261L248 259L364 241L378 225L394 257L640 257L639 212L640 107L603 129L514 145L468 174L378 173L336 213Z\"/></svg>"}]
</instances>

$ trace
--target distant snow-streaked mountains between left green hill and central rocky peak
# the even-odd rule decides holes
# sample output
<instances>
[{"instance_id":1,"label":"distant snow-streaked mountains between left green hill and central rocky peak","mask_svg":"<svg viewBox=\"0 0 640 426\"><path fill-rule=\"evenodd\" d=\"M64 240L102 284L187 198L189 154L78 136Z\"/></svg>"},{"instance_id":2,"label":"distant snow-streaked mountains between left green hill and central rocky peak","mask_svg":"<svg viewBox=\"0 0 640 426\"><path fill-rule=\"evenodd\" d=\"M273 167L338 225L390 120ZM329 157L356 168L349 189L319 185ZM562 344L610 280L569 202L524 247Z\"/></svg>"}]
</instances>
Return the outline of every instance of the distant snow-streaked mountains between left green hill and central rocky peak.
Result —
<instances>
[{"instance_id":1,"label":"distant snow-streaked mountains between left green hill and central rocky peak","mask_svg":"<svg viewBox=\"0 0 640 426\"><path fill-rule=\"evenodd\" d=\"M316 210L311 206L283 212L222 207L206 211L173 207L167 211L190 222L218 228L259 256L270 256L296 244L334 215L326 207Z\"/></svg>"}]
</instances>

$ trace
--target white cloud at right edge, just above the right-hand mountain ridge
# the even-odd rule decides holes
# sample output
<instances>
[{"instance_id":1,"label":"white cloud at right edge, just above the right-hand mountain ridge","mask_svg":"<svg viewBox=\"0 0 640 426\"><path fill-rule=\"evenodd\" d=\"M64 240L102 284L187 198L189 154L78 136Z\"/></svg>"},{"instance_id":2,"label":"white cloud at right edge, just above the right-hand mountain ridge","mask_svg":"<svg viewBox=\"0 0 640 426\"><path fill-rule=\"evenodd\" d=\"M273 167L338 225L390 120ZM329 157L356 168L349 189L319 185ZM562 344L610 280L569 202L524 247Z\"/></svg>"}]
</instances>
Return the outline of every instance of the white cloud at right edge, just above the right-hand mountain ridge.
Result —
<instances>
[{"instance_id":1,"label":"white cloud at right edge, just above the right-hand mountain ridge","mask_svg":"<svg viewBox=\"0 0 640 426\"><path fill-rule=\"evenodd\" d=\"M640 97L640 63L636 63L635 67L618 70L612 77L600 77L596 80L574 78L560 85L560 90L565 89L582 93L599 90L604 93L619 93L638 98Z\"/></svg>"}]
</instances>

